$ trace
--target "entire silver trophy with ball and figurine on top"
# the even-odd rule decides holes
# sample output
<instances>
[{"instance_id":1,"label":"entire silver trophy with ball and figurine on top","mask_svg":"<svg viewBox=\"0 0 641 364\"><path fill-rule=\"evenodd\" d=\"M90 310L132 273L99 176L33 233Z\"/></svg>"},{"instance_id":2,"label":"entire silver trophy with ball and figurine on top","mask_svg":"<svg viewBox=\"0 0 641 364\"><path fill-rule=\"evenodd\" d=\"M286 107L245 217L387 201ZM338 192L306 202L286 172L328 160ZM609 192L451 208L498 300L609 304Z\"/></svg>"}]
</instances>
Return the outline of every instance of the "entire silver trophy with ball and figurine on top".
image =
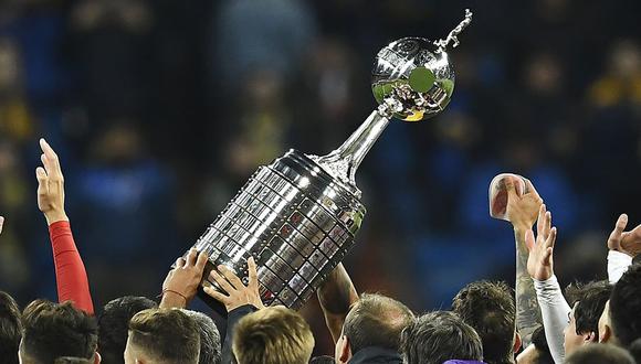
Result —
<instances>
[{"instance_id":1,"label":"entire silver trophy with ball and figurine on top","mask_svg":"<svg viewBox=\"0 0 641 364\"><path fill-rule=\"evenodd\" d=\"M366 212L356 170L390 118L424 120L450 103L454 73L445 50L459 44L456 35L471 21L465 10L444 40L404 38L380 50L371 84L379 107L340 148L323 157L290 150L260 167L195 245L209 255L201 285L221 290L209 279L219 265L246 283L246 259L253 256L263 302L301 308L354 244ZM220 303L199 296L224 313Z\"/></svg>"}]
</instances>

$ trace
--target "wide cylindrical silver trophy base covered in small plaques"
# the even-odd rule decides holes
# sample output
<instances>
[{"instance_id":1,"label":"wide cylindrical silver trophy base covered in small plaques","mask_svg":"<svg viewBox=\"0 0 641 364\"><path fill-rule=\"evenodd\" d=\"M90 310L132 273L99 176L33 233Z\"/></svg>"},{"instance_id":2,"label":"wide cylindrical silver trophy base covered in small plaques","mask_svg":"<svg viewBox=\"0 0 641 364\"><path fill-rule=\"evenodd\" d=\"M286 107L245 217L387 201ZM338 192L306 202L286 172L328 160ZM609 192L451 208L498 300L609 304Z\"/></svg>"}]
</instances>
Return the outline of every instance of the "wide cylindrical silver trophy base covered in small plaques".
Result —
<instances>
[{"instance_id":1,"label":"wide cylindrical silver trophy base covered in small plaques","mask_svg":"<svg viewBox=\"0 0 641 364\"><path fill-rule=\"evenodd\" d=\"M348 186L290 150L260 167L196 243L209 255L202 286L220 289L209 278L218 265L246 277L253 256L263 302L298 309L353 246L365 213ZM218 302L199 295L224 314Z\"/></svg>"}]
</instances>

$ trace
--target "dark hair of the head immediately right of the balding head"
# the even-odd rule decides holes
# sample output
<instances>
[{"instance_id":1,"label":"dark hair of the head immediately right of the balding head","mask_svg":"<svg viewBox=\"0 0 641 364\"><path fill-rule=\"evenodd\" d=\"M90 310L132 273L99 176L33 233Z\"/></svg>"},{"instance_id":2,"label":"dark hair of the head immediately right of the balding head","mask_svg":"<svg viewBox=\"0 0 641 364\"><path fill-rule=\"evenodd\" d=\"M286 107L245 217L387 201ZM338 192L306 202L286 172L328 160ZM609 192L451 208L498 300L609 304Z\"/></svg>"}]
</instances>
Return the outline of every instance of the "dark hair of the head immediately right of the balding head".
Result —
<instances>
[{"instance_id":1,"label":"dark hair of the head immediately right of the balding head","mask_svg":"<svg viewBox=\"0 0 641 364\"><path fill-rule=\"evenodd\" d=\"M483 345L476 331L449 311L434 311L419 317L403 330L400 346L406 364L483 360Z\"/></svg>"}]
</instances>

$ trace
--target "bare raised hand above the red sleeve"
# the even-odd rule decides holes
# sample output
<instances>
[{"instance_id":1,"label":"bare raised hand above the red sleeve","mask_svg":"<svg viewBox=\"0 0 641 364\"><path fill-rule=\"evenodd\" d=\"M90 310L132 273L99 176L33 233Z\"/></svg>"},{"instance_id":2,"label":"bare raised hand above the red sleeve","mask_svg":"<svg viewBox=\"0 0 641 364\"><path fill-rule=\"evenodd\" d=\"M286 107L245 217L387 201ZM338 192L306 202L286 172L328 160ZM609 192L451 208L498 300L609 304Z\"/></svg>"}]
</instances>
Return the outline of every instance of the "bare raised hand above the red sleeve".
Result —
<instances>
[{"instance_id":1,"label":"bare raised hand above the red sleeve","mask_svg":"<svg viewBox=\"0 0 641 364\"><path fill-rule=\"evenodd\" d=\"M64 211L64 176L57 154L44 139L40 139L43 167L35 169L38 179L38 208L44 214L49 225L69 221Z\"/></svg>"}]
</instances>

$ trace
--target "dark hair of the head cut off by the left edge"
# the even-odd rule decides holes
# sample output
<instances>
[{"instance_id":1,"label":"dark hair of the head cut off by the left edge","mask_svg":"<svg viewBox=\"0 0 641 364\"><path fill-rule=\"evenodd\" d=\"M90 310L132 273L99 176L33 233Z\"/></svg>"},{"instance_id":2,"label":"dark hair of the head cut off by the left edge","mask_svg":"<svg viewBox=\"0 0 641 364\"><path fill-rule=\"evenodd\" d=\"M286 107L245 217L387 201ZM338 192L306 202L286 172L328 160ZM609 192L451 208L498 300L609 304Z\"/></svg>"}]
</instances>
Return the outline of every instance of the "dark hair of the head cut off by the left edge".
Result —
<instances>
[{"instance_id":1,"label":"dark hair of the head cut off by the left edge","mask_svg":"<svg viewBox=\"0 0 641 364\"><path fill-rule=\"evenodd\" d=\"M18 364L18 347L22 339L20 309L13 297L0 291L0 357L2 363Z\"/></svg>"}]
</instances>

